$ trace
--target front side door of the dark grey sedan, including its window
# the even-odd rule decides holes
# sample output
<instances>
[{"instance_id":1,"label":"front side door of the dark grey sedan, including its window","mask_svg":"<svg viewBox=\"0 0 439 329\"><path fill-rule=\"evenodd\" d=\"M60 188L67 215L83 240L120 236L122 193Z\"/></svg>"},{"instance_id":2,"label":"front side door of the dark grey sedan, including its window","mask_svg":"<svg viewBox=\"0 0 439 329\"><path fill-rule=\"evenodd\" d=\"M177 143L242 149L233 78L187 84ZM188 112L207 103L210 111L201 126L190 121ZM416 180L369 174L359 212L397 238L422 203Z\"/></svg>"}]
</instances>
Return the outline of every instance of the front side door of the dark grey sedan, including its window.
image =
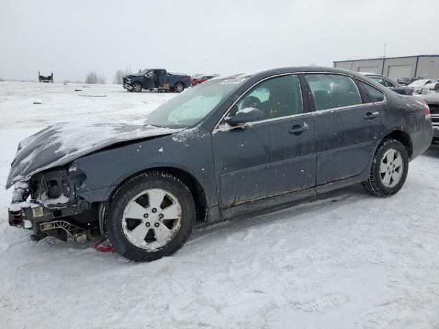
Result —
<instances>
[{"instance_id":1,"label":"front side door of the dark grey sedan, including its window","mask_svg":"<svg viewBox=\"0 0 439 329\"><path fill-rule=\"evenodd\" d=\"M220 208L314 186L312 114L303 106L297 75L263 80L225 117L258 108L265 118L230 127L223 120L212 134Z\"/></svg>"}]
</instances>

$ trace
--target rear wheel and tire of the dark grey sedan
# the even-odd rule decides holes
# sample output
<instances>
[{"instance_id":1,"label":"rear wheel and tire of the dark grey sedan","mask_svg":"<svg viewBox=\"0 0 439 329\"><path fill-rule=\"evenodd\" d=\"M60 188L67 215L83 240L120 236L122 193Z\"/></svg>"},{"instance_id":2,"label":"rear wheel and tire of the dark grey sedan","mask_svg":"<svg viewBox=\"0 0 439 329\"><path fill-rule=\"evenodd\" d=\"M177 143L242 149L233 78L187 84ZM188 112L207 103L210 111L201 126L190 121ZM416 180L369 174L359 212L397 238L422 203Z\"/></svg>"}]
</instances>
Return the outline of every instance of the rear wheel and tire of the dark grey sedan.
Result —
<instances>
[{"instance_id":1,"label":"rear wheel and tire of the dark grey sedan","mask_svg":"<svg viewBox=\"0 0 439 329\"><path fill-rule=\"evenodd\" d=\"M403 187L409 170L407 149L399 141L385 139L375 152L364 189L377 197L390 197Z\"/></svg>"}]
</instances>

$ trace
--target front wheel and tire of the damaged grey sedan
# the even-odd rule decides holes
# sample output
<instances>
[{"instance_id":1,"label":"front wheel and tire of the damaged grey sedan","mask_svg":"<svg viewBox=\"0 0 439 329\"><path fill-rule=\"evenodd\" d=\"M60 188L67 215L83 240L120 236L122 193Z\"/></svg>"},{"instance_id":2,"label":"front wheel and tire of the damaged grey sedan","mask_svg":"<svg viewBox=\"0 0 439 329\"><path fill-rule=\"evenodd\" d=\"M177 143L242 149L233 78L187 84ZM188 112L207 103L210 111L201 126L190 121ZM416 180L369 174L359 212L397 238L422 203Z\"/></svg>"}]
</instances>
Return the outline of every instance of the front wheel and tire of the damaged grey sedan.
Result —
<instances>
[{"instance_id":1,"label":"front wheel and tire of the damaged grey sedan","mask_svg":"<svg viewBox=\"0 0 439 329\"><path fill-rule=\"evenodd\" d=\"M160 193L165 193L161 202ZM180 249L193 230L195 218L191 192L178 178L161 172L142 173L123 183L113 195L104 232L121 256L149 262Z\"/></svg>"}]
</instances>

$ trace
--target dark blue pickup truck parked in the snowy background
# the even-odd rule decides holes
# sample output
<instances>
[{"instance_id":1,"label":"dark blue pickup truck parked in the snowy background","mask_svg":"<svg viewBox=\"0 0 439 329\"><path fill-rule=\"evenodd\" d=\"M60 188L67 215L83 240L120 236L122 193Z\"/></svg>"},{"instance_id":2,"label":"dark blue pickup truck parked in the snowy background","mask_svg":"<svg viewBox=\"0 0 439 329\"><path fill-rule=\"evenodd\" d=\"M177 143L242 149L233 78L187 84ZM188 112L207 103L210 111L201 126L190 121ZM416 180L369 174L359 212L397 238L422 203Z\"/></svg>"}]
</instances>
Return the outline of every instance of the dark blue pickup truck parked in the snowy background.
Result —
<instances>
[{"instance_id":1,"label":"dark blue pickup truck parked in the snowy background","mask_svg":"<svg viewBox=\"0 0 439 329\"><path fill-rule=\"evenodd\" d=\"M137 74L123 77L123 88L128 91L141 92L142 89L176 91L181 93L191 86L189 75L169 73L165 69L144 69Z\"/></svg>"}]
</instances>

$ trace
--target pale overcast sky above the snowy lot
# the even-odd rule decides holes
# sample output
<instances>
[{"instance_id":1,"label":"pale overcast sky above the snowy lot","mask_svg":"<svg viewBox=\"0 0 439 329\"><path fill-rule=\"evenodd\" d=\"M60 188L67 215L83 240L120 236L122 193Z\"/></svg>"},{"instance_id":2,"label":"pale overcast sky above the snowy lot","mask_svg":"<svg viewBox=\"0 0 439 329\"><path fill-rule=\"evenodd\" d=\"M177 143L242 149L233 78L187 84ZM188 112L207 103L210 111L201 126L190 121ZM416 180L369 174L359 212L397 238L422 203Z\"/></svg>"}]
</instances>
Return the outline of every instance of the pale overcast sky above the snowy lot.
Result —
<instances>
[{"instance_id":1,"label":"pale overcast sky above the snowy lot","mask_svg":"<svg viewBox=\"0 0 439 329\"><path fill-rule=\"evenodd\" d=\"M129 66L234 73L439 53L438 0L0 0L0 77L112 82Z\"/></svg>"}]
</instances>

